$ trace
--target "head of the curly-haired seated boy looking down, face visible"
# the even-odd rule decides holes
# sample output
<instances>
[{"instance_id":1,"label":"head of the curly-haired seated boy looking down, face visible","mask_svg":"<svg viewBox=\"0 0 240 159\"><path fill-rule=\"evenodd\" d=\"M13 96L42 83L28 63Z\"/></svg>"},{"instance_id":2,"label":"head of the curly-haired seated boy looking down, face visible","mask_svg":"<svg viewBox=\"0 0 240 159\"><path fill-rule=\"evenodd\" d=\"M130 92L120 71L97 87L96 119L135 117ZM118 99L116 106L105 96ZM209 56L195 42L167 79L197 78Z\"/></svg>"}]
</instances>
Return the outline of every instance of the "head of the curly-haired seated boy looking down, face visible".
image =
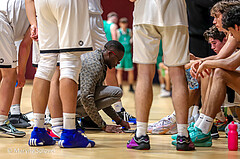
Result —
<instances>
[{"instance_id":1,"label":"head of the curly-haired seated boy looking down, face visible","mask_svg":"<svg viewBox=\"0 0 240 159\"><path fill-rule=\"evenodd\" d=\"M211 49L213 49L217 54L227 41L224 32L219 31L215 25L206 30L203 36L205 37L206 41L211 44Z\"/></svg>"}]
</instances>

